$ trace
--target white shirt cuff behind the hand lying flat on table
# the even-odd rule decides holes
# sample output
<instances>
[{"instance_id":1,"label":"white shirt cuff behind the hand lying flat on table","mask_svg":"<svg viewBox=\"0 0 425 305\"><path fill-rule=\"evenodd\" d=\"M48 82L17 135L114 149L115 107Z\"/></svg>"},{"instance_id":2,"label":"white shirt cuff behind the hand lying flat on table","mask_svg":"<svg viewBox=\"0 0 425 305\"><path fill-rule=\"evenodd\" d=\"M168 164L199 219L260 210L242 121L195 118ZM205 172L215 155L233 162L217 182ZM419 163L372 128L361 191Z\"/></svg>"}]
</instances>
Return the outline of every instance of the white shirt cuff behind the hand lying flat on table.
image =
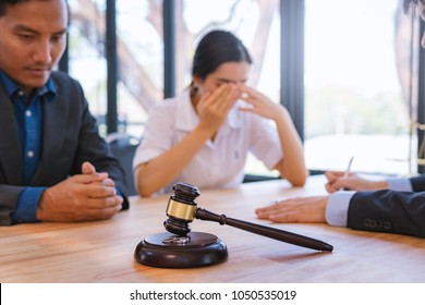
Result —
<instances>
[{"instance_id":1,"label":"white shirt cuff behind the hand lying flat on table","mask_svg":"<svg viewBox=\"0 0 425 305\"><path fill-rule=\"evenodd\" d=\"M328 224L335 227L347 227L349 204L354 194L354 191L347 191L337 192L330 195L325 211L325 218Z\"/></svg>"}]
</instances>

